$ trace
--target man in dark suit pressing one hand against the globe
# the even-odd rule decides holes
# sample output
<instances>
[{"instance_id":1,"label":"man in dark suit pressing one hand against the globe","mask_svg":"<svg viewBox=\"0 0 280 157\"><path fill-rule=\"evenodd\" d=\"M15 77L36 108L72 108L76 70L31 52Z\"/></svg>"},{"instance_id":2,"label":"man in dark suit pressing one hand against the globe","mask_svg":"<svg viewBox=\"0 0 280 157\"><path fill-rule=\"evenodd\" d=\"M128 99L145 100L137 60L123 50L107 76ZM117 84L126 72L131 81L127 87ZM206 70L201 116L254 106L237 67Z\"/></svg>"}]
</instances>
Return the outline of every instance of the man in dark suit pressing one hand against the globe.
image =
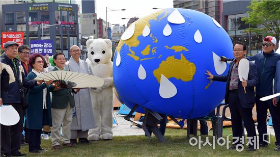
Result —
<instances>
[{"instance_id":1,"label":"man in dark suit pressing one hand against the globe","mask_svg":"<svg viewBox=\"0 0 280 157\"><path fill-rule=\"evenodd\" d=\"M232 118L232 132L233 137L236 139L236 143L231 147L231 149L239 148L242 137L242 120L244 121L244 126L247 130L248 137L255 137L256 140L256 129L253 120L252 110L255 104L255 89L254 87L258 83L258 72L257 66L253 63L249 63L249 74L248 80L243 78L243 81L239 81L238 75L238 63L244 58L246 54L246 45L242 42L237 42L233 49L233 55L235 57L234 61L230 64L229 72L224 76L212 75L211 72L207 70L207 79L212 79L213 81L227 82L225 102L229 104ZM246 88L246 93L244 92L244 87ZM256 143L256 141L255 141ZM254 145L249 145L248 151L256 150Z\"/></svg>"}]
</instances>

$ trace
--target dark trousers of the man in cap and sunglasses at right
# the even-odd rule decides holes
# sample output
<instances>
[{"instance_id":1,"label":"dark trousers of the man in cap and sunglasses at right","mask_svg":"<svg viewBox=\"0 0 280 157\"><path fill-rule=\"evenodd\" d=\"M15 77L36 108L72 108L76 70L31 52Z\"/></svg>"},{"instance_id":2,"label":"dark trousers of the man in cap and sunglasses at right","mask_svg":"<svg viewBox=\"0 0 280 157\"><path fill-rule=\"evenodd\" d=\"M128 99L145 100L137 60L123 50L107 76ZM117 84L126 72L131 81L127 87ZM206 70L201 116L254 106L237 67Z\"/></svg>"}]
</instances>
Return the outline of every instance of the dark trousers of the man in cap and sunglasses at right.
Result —
<instances>
[{"instance_id":1,"label":"dark trousers of the man in cap and sunglasses at right","mask_svg":"<svg viewBox=\"0 0 280 157\"><path fill-rule=\"evenodd\" d=\"M257 119L258 119L258 132L260 136L260 144L266 144L264 140L267 141L267 109L269 109L270 115L272 117L272 124L274 128L274 133L276 137L275 144L280 144L280 103L277 103L275 107L272 100L261 101L260 96L256 95L256 106L257 106Z\"/></svg>"}]
</instances>

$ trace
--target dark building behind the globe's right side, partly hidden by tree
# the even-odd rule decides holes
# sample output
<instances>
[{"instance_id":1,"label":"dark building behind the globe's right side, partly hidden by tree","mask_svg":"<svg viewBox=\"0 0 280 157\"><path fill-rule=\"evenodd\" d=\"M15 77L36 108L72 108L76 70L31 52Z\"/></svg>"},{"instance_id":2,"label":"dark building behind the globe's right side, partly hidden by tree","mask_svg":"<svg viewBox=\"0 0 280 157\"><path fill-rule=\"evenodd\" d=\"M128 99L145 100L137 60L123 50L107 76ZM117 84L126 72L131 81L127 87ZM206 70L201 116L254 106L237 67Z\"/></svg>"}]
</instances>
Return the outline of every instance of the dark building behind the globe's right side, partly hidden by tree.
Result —
<instances>
[{"instance_id":1,"label":"dark building behind the globe's right side, partly hidden by tree","mask_svg":"<svg viewBox=\"0 0 280 157\"><path fill-rule=\"evenodd\" d=\"M251 27L241 19L249 16L247 6L250 1L223 1L222 27L227 31L233 42L242 41L248 45L248 55L254 55L262 50L262 35L250 33L245 29Z\"/></svg>"}]
</instances>

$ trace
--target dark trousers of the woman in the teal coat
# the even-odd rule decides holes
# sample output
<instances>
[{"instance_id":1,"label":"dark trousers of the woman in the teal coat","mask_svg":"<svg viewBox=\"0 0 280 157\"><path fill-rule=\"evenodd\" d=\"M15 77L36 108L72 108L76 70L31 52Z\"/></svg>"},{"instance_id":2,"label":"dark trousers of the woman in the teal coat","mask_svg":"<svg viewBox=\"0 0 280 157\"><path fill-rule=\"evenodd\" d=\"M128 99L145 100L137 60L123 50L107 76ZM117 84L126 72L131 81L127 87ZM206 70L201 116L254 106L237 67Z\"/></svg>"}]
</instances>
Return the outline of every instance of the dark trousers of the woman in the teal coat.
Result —
<instances>
[{"instance_id":1,"label":"dark trousers of the woman in the teal coat","mask_svg":"<svg viewBox=\"0 0 280 157\"><path fill-rule=\"evenodd\" d=\"M41 146L42 129L29 129L29 151L39 149Z\"/></svg>"}]
</instances>

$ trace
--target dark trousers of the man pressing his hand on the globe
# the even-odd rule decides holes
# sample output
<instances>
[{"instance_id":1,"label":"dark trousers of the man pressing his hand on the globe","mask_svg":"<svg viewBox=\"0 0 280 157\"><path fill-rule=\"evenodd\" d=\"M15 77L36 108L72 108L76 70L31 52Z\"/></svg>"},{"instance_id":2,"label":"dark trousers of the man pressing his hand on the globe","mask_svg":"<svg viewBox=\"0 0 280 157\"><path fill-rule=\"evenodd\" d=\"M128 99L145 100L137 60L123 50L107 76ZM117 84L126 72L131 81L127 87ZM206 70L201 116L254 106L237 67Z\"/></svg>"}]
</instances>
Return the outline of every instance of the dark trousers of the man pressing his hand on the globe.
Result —
<instances>
[{"instance_id":1,"label":"dark trousers of the man pressing his hand on the globe","mask_svg":"<svg viewBox=\"0 0 280 157\"><path fill-rule=\"evenodd\" d=\"M240 104L238 93L234 92L229 92L229 107L232 119L232 134L233 137L239 137L239 141L235 140L235 142L237 141L237 144L241 143L240 138L242 138L243 135L242 120L247 131L247 137L254 139L257 134L252 114L253 108L243 108Z\"/></svg>"}]
</instances>

